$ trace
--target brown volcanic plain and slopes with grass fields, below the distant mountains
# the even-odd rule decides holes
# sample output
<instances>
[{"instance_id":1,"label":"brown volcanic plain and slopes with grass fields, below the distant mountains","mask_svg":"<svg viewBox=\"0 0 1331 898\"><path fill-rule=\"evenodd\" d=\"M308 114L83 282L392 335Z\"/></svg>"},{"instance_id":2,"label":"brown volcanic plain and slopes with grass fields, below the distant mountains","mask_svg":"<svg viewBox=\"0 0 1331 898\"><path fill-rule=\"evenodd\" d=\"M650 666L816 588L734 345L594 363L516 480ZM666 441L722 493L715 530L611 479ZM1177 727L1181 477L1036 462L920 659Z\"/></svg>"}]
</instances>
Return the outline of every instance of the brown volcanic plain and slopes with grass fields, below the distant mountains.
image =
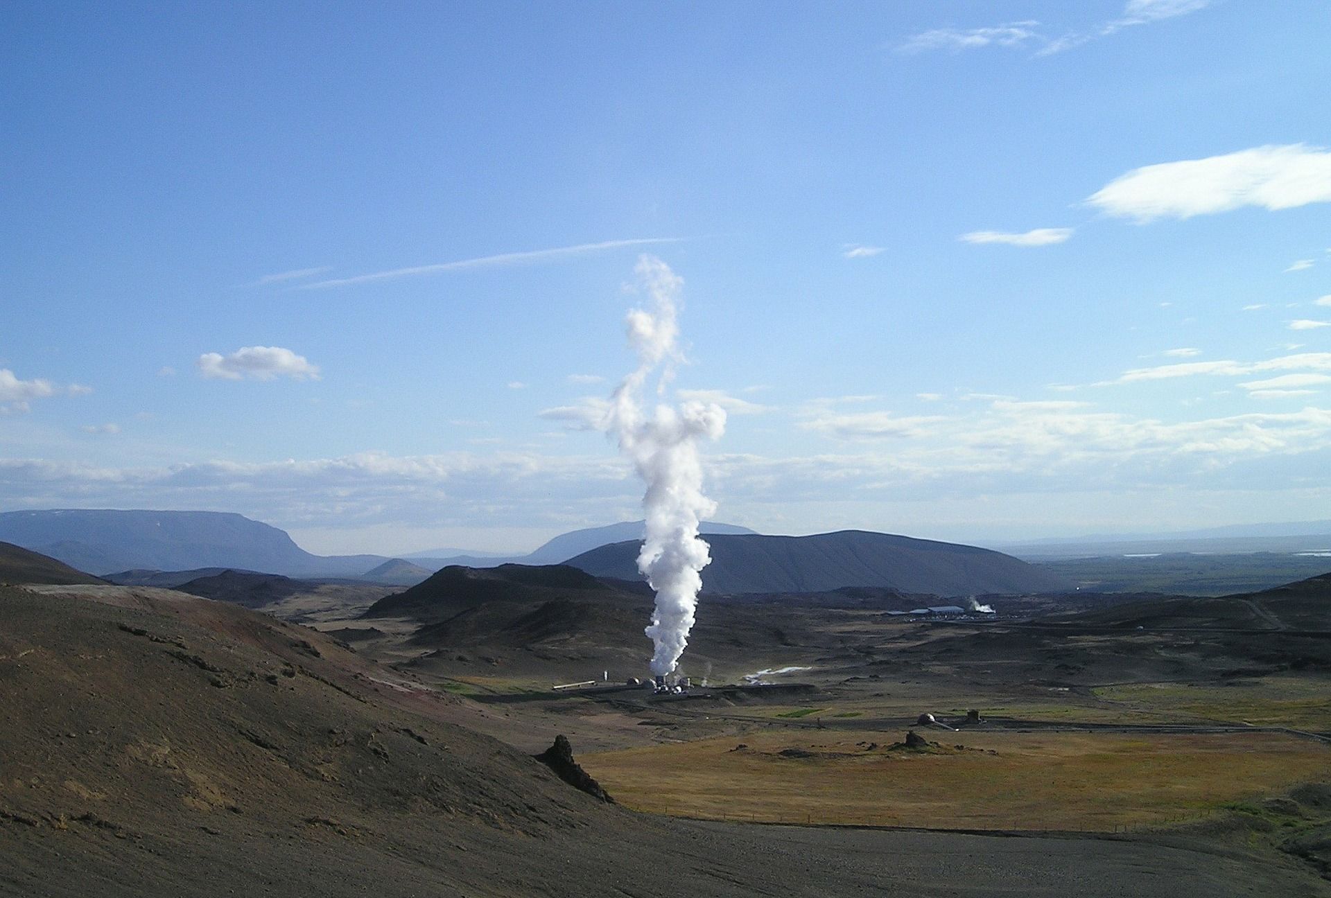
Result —
<instances>
[{"instance_id":1,"label":"brown volcanic plain and slopes with grass fields, below the distant mountains","mask_svg":"<svg viewBox=\"0 0 1331 898\"><path fill-rule=\"evenodd\" d=\"M0 891L1331 894L1324 588L704 599L707 685L666 701L550 689L643 676L624 584L371 617L390 589L5 588ZM531 758L558 733L618 805Z\"/></svg>"}]
</instances>

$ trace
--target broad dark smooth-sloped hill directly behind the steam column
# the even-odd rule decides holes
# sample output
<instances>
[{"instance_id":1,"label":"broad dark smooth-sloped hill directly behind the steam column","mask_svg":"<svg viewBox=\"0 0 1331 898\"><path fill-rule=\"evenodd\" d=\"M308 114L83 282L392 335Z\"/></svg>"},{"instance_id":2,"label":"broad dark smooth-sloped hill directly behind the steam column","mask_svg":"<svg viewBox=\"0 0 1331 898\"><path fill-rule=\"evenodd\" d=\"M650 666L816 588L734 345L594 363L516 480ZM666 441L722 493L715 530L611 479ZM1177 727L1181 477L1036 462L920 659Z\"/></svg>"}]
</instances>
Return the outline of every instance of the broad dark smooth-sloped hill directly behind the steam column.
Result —
<instances>
[{"instance_id":1,"label":"broad dark smooth-sloped hill directly behind the steam column","mask_svg":"<svg viewBox=\"0 0 1331 898\"><path fill-rule=\"evenodd\" d=\"M1055 592L1067 583L1010 555L974 545L840 531L815 536L716 535L703 571L708 593L828 592L888 587L936 596ZM639 580L639 543L615 543L568 560L595 576Z\"/></svg>"}]
</instances>

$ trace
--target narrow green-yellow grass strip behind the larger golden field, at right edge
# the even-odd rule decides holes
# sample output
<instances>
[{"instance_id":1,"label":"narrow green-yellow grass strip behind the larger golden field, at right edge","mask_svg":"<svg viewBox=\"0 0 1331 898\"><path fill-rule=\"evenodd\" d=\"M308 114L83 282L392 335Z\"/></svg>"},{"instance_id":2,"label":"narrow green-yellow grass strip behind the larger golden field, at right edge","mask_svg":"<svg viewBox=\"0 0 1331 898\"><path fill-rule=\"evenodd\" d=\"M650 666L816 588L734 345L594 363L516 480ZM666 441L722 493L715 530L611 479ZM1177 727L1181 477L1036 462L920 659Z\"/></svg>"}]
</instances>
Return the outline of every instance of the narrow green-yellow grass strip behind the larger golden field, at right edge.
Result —
<instances>
[{"instance_id":1,"label":"narrow green-yellow grass strip behind the larger golden field, at right edge","mask_svg":"<svg viewBox=\"0 0 1331 898\"><path fill-rule=\"evenodd\" d=\"M1331 693L1326 680L1286 676L1236 680L1231 685L1138 682L1099 686L1094 692L1125 713L1331 730Z\"/></svg>"}]
</instances>

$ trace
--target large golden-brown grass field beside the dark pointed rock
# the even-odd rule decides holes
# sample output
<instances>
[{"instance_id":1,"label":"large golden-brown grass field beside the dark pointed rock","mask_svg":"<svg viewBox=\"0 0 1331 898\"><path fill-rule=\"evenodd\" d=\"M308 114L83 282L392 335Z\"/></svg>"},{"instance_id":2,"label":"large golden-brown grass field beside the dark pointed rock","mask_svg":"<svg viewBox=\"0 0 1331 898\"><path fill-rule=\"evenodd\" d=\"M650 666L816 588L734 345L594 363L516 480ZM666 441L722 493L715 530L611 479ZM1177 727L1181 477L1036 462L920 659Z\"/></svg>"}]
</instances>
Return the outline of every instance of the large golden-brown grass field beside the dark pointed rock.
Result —
<instances>
[{"instance_id":1,"label":"large golden-brown grass field beside the dark pointed rock","mask_svg":"<svg viewBox=\"0 0 1331 898\"><path fill-rule=\"evenodd\" d=\"M1110 831L1331 780L1331 749L1278 734L928 738L942 745L892 750L884 733L764 732L579 761L638 810L942 829Z\"/></svg>"}]
</instances>

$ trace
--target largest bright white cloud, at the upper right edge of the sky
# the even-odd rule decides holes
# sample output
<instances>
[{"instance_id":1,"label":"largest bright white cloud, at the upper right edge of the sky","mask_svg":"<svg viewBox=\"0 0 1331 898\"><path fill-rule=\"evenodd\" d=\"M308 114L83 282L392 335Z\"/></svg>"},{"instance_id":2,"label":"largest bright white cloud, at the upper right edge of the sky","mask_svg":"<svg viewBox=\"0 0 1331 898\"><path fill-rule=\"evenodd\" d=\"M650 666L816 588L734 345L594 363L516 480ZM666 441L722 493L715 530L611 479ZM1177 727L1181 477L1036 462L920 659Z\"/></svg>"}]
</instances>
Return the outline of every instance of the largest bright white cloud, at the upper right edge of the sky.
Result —
<instances>
[{"instance_id":1,"label":"largest bright white cloud, at the upper right edge of the sky","mask_svg":"<svg viewBox=\"0 0 1331 898\"><path fill-rule=\"evenodd\" d=\"M1138 224L1331 202L1331 153L1304 144L1254 149L1133 169L1090 196L1106 214Z\"/></svg>"}]
</instances>

